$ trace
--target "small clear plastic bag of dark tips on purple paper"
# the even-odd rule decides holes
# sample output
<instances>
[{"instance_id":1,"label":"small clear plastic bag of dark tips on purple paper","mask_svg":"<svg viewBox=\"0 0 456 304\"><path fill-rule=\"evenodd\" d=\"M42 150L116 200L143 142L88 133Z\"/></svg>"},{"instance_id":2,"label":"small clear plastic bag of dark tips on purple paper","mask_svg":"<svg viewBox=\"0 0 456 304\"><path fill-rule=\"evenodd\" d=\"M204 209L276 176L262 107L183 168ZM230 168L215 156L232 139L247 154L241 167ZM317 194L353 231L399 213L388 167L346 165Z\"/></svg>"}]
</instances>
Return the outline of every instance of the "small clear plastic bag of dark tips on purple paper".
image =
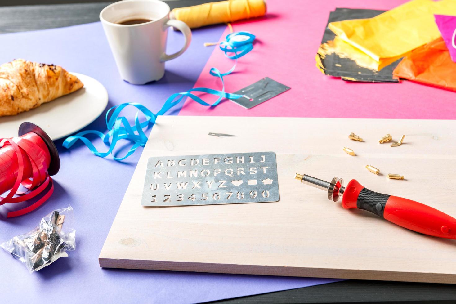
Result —
<instances>
[{"instance_id":1,"label":"small clear plastic bag of dark tips on purple paper","mask_svg":"<svg viewBox=\"0 0 456 304\"><path fill-rule=\"evenodd\" d=\"M57 209L41 219L30 232L13 237L0 246L26 265L30 273L49 266L66 251L76 249L73 208Z\"/></svg>"}]
</instances>

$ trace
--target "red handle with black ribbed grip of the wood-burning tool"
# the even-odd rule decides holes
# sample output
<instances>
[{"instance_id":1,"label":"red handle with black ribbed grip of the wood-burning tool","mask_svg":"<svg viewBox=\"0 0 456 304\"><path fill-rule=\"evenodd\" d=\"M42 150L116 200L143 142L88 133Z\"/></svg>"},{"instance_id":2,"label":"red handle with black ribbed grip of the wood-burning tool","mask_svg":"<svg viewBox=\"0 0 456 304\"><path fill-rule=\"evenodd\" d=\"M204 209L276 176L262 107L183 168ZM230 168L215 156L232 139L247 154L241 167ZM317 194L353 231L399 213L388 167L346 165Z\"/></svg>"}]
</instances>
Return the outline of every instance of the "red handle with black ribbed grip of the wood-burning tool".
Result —
<instances>
[{"instance_id":1,"label":"red handle with black ribbed grip of the wood-burning tool","mask_svg":"<svg viewBox=\"0 0 456 304\"><path fill-rule=\"evenodd\" d=\"M431 235L456 239L456 219L430 206L398 196L370 191L350 180L342 196L346 209L370 211L401 227Z\"/></svg>"}]
</instances>

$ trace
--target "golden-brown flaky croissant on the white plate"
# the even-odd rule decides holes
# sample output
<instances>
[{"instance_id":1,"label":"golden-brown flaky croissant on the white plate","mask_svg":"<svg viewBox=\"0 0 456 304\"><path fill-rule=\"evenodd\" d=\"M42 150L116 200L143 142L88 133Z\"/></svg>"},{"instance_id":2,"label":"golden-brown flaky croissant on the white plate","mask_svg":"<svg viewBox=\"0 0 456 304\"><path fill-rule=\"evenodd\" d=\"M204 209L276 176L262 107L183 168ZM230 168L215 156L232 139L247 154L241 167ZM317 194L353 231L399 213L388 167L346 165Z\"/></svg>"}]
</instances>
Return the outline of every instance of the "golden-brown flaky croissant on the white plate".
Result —
<instances>
[{"instance_id":1,"label":"golden-brown flaky croissant on the white plate","mask_svg":"<svg viewBox=\"0 0 456 304\"><path fill-rule=\"evenodd\" d=\"M0 117L41 106L83 87L78 77L53 64L15 59L0 66Z\"/></svg>"}]
</instances>

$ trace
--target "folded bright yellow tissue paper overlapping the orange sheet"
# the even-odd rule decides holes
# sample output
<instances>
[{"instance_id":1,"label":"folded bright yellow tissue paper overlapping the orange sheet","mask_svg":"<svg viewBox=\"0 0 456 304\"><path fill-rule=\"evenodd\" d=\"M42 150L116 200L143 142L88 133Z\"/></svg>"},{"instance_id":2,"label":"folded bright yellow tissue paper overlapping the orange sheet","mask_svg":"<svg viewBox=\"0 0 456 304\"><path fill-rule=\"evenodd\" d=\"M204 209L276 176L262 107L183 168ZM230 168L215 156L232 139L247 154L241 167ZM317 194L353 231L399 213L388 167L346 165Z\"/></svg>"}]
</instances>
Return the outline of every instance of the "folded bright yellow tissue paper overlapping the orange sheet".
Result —
<instances>
[{"instance_id":1,"label":"folded bright yellow tissue paper overlapping the orange sheet","mask_svg":"<svg viewBox=\"0 0 456 304\"><path fill-rule=\"evenodd\" d=\"M456 0L411 0L373 18L331 22L328 26L374 60L394 61L440 36L434 14L456 15Z\"/></svg>"}]
</instances>

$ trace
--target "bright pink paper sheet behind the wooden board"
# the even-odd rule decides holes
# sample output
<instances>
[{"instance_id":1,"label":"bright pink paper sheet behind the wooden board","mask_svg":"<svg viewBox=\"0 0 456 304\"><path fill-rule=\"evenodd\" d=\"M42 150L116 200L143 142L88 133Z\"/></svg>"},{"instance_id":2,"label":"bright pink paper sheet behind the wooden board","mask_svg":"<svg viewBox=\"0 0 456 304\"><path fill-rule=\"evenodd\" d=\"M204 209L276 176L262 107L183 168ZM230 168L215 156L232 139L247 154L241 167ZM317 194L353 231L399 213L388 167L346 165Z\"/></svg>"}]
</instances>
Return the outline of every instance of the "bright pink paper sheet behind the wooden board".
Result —
<instances>
[{"instance_id":1,"label":"bright pink paper sheet behind the wooden board","mask_svg":"<svg viewBox=\"0 0 456 304\"><path fill-rule=\"evenodd\" d=\"M236 72L225 77L226 90L235 92L266 76L291 90L249 110L229 100L215 108L187 100L179 115L456 119L454 92L409 81L346 82L325 76L315 67L329 11L336 7L389 10L404 2L268 0L265 18L233 24L234 31L255 34L257 42L252 52L239 59ZM227 28L223 38L228 32ZM209 69L218 67L224 72L233 63L215 46L195 87L220 89Z\"/></svg>"}]
</instances>

